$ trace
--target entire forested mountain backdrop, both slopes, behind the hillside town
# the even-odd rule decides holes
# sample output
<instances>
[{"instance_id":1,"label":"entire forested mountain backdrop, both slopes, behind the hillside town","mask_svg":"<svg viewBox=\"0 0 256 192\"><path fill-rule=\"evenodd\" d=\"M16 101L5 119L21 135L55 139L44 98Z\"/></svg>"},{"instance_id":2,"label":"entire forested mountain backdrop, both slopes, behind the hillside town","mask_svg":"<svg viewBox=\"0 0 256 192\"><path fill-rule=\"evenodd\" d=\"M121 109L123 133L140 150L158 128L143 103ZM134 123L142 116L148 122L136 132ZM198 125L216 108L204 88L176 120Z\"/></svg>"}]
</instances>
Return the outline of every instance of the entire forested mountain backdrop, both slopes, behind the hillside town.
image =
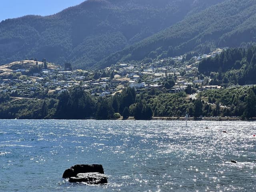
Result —
<instances>
[{"instance_id":1,"label":"entire forested mountain backdrop, both slopes, behind the hillside town","mask_svg":"<svg viewBox=\"0 0 256 192\"><path fill-rule=\"evenodd\" d=\"M74 68L208 53L256 40L255 0L87 0L0 23L0 64L47 58Z\"/></svg>"}]
</instances>

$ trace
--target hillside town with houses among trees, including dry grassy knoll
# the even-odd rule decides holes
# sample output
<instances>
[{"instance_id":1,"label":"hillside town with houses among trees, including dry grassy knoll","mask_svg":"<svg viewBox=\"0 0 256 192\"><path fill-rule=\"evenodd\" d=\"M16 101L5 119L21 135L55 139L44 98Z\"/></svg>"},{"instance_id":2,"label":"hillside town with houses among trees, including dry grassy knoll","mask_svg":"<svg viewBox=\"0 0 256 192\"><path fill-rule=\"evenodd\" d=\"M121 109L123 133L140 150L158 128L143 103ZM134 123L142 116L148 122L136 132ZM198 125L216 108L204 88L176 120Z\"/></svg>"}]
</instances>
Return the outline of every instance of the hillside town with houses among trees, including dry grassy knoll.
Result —
<instances>
[{"instance_id":1,"label":"hillside town with houses among trees, including dry grassy knoll","mask_svg":"<svg viewBox=\"0 0 256 192\"><path fill-rule=\"evenodd\" d=\"M61 67L45 59L23 60L0 67L0 93L16 98L41 98L78 85L94 96L114 95L124 87L134 87L138 92L157 88L169 93L184 91L189 85L195 90L220 89L219 85L208 86L210 79L198 74L197 64L221 52L218 48L187 59L183 55L140 64L120 63L99 71L72 70L71 64ZM174 79L173 85L166 83L167 77Z\"/></svg>"}]
</instances>

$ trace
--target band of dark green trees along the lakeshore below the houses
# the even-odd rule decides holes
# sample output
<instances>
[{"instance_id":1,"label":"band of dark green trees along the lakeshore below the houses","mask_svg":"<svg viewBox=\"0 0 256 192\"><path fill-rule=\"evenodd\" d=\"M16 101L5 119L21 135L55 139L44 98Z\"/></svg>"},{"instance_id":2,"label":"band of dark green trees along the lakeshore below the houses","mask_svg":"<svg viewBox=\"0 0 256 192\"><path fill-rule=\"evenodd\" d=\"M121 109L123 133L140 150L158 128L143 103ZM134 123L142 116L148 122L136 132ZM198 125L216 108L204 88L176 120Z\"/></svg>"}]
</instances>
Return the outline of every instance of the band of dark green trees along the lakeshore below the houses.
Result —
<instances>
[{"instance_id":1,"label":"band of dark green trees along the lakeshore below the houses","mask_svg":"<svg viewBox=\"0 0 256 192\"><path fill-rule=\"evenodd\" d=\"M256 87L242 86L198 93L196 99L188 92L163 93L158 89L136 93L124 88L114 96L94 97L76 86L61 94L43 99L13 99L0 96L2 119L180 119L186 114L202 120L252 119L256 112ZM214 102L214 103L212 103Z\"/></svg>"}]
</instances>

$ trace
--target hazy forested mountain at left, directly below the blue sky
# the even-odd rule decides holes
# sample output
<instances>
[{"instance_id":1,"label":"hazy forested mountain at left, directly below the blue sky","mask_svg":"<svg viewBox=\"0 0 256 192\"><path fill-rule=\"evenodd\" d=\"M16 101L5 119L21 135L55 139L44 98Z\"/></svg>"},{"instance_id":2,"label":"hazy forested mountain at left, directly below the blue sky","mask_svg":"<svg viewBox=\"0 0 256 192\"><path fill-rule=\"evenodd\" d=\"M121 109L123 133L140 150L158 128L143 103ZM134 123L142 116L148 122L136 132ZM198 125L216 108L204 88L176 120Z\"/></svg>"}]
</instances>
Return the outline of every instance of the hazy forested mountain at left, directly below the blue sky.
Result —
<instances>
[{"instance_id":1,"label":"hazy forested mountain at left, directly below the blue sky","mask_svg":"<svg viewBox=\"0 0 256 192\"><path fill-rule=\"evenodd\" d=\"M0 64L46 58L56 64L90 67L222 1L87 0L51 16L4 20L0 23Z\"/></svg>"}]
</instances>

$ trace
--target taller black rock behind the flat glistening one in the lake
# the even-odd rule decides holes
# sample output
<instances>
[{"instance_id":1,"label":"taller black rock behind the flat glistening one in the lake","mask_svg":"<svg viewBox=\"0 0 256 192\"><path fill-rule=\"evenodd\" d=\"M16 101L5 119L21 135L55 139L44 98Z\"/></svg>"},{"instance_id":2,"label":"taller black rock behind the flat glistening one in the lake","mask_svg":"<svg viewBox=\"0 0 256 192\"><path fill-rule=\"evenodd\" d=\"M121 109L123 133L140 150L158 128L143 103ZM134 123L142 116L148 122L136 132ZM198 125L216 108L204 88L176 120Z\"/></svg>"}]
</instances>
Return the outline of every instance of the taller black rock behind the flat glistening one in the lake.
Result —
<instances>
[{"instance_id":1,"label":"taller black rock behind the flat glistening one in the lake","mask_svg":"<svg viewBox=\"0 0 256 192\"><path fill-rule=\"evenodd\" d=\"M66 169L62 175L62 178L75 177L78 173L100 173L104 174L102 165L92 164L92 165L74 165L69 169Z\"/></svg>"}]
</instances>

